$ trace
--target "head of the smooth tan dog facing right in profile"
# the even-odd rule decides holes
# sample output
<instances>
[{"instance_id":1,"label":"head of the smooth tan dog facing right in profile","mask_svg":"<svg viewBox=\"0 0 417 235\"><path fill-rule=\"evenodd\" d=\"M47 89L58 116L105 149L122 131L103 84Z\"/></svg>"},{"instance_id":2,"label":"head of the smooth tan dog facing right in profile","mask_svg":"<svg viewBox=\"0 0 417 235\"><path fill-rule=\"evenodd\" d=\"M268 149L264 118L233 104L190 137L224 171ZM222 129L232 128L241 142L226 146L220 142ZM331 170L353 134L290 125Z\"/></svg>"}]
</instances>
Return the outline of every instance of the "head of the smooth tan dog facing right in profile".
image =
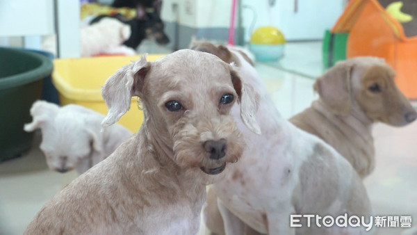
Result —
<instances>
[{"instance_id":1,"label":"head of the smooth tan dog facing right in profile","mask_svg":"<svg viewBox=\"0 0 417 235\"><path fill-rule=\"evenodd\" d=\"M339 115L347 115L352 102L373 122L404 126L417 113L394 83L395 72L384 60L358 57L337 63L318 78L320 98Z\"/></svg>"}]
</instances>

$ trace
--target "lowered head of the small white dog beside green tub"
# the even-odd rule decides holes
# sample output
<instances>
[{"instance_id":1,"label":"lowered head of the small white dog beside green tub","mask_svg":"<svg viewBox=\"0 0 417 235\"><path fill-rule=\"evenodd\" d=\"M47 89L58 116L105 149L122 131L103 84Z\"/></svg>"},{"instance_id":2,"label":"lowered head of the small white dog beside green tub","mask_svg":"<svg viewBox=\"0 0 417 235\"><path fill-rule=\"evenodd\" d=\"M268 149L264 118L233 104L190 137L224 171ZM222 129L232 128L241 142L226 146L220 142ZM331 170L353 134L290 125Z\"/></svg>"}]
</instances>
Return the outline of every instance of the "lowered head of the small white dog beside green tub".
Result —
<instances>
[{"instance_id":1,"label":"lowered head of the small white dog beside green tub","mask_svg":"<svg viewBox=\"0 0 417 235\"><path fill-rule=\"evenodd\" d=\"M94 138L76 114L60 112L56 104L38 101L33 104L31 115L33 122L26 124L24 130L41 130L40 149L51 170L73 170L92 154Z\"/></svg>"}]
</instances>

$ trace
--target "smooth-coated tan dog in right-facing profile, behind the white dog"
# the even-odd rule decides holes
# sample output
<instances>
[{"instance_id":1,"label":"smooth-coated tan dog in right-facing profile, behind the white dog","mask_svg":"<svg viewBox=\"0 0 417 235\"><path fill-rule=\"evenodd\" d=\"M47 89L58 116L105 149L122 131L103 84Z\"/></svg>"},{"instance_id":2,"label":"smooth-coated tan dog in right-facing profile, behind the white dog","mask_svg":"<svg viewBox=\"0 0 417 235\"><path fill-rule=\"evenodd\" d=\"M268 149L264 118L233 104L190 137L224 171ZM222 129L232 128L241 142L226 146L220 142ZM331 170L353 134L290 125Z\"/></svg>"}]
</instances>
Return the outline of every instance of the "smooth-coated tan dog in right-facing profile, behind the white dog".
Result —
<instances>
[{"instance_id":1,"label":"smooth-coated tan dog in right-facing profile, behind the white dog","mask_svg":"<svg viewBox=\"0 0 417 235\"><path fill-rule=\"evenodd\" d=\"M375 167L374 122L402 127L417 113L394 83L384 60L358 57L336 63L314 84L320 99L290 122L332 145L359 175Z\"/></svg>"}]
</instances>

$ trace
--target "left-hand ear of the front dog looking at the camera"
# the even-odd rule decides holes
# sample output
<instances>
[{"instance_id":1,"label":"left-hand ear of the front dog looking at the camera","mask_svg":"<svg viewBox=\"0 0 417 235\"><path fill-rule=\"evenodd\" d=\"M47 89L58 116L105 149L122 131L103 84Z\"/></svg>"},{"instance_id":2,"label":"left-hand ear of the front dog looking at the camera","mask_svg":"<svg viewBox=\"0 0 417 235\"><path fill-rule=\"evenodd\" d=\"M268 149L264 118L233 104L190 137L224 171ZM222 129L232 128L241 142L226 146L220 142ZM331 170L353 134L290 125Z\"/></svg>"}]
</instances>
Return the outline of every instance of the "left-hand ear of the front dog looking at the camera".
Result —
<instances>
[{"instance_id":1,"label":"left-hand ear of the front dog looking at the camera","mask_svg":"<svg viewBox=\"0 0 417 235\"><path fill-rule=\"evenodd\" d=\"M101 122L102 126L107 127L120 120L131 106L131 97L141 96L143 79L150 68L151 63L147 62L145 55L121 67L107 79L101 90L108 107L107 116Z\"/></svg>"}]
</instances>

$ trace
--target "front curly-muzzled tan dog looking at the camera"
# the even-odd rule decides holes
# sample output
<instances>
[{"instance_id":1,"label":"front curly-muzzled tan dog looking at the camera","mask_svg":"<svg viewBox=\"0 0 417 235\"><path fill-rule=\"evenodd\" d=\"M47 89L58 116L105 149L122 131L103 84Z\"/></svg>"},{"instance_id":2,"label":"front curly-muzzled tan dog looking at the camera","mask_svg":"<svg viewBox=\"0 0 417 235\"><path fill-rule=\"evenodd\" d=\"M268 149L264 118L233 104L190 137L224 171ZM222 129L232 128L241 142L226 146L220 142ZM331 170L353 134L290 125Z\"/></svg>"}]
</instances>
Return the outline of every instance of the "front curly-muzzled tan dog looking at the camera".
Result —
<instances>
[{"instance_id":1,"label":"front curly-muzzled tan dog looking at the camera","mask_svg":"<svg viewBox=\"0 0 417 235\"><path fill-rule=\"evenodd\" d=\"M244 141L229 112L259 133L259 96L231 65L180 50L122 67L103 88L104 126L142 101L138 133L60 191L26 234L196 234L206 184L239 159ZM229 168L229 167L228 167Z\"/></svg>"}]
</instances>

